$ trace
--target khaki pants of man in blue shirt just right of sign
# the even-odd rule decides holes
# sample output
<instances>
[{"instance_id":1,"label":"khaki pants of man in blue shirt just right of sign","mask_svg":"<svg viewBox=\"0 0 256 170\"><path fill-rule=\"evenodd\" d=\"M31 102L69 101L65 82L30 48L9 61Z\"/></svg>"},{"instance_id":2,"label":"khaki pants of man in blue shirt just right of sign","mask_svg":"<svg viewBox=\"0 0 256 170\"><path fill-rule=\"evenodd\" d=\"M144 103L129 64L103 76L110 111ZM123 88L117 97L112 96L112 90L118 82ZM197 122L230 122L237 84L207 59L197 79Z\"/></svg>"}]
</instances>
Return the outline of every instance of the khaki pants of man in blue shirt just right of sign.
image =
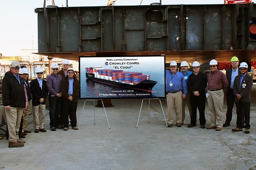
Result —
<instances>
[{"instance_id":1,"label":"khaki pants of man in blue shirt just right of sign","mask_svg":"<svg viewBox=\"0 0 256 170\"><path fill-rule=\"evenodd\" d=\"M168 124L174 123L174 110L176 115L176 124L182 123L182 91L177 93L168 93L166 96L168 109Z\"/></svg>"}]
</instances>

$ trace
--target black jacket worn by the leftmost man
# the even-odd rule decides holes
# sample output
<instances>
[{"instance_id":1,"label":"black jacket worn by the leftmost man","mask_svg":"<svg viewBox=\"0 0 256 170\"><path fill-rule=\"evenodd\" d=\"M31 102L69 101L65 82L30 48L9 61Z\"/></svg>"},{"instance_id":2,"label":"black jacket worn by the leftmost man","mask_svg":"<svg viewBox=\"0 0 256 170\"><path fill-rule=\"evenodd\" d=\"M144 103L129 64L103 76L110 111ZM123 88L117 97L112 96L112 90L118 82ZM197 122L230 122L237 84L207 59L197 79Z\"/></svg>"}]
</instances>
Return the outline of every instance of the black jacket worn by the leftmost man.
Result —
<instances>
[{"instance_id":1,"label":"black jacket worn by the leftmost man","mask_svg":"<svg viewBox=\"0 0 256 170\"><path fill-rule=\"evenodd\" d=\"M13 108L25 108L26 96L24 90L24 82L19 77L21 84L15 76L8 72L2 80L2 98L3 106L11 106Z\"/></svg>"}]
</instances>

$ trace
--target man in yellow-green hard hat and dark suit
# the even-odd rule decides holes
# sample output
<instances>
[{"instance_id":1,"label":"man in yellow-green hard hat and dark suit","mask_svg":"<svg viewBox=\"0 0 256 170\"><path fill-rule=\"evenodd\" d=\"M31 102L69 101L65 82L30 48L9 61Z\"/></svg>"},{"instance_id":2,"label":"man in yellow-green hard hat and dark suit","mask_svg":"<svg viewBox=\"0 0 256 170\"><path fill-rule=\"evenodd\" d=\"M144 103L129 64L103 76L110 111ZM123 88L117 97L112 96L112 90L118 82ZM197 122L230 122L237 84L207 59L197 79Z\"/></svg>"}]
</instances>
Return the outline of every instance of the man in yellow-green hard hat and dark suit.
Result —
<instances>
[{"instance_id":1,"label":"man in yellow-green hard hat and dark suit","mask_svg":"<svg viewBox=\"0 0 256 170\"><path fill-rule=\"evenodd\" d=\"M226 103L227 103L227 112L226 112L226 121L223 124L223 127L230 126L230 122L232 119L233 106L235 102L235 94L233 91L233 84L235 77L240 75L240 69L238 68L239 60L236 56L231 58L231 66L232 68L226 70L226 76L228 79L228 87L226 89Z\"/></svg>"}]
</instances>

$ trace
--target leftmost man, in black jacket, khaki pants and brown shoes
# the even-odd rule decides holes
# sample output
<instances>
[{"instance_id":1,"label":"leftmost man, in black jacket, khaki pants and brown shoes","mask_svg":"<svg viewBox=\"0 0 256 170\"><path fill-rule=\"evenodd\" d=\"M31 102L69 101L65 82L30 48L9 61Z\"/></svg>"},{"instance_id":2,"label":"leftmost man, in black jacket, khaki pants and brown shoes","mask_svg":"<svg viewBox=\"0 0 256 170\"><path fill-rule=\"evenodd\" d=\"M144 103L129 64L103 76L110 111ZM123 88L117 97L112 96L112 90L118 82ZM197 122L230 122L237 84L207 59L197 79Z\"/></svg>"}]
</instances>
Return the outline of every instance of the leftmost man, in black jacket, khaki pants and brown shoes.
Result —
<instances>
[{"instance_id":1,"label":"leftmost man, in black jacket, khaki pants and brown shoes","mask_svg":"<svg viewBox=\"0 0 256 170\"><path fill-rule=\"evenodd\" d=\"M23 147L25 143L19 139L19 126L23 108L26 107L24 82L18 74L19 68L19 62L12 61L11 70L2 80L2 101L9 131L9 147Z\"/></svg>"}]
</instances>

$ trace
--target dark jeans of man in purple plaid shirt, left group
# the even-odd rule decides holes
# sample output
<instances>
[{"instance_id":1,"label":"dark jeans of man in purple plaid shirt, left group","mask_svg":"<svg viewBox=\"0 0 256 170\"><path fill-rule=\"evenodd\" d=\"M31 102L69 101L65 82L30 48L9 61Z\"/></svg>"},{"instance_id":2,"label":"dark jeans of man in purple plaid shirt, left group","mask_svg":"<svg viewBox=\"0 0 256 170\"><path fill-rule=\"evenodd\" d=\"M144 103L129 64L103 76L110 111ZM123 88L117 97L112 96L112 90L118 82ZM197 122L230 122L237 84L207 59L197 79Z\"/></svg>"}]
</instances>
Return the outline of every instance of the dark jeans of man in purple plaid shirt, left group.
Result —
<instances>
[{"instance_id":1,"label":"dark jeans of man in purple plaid shirt, left group","mask_svg":"<svg viewBox=\"0 0 256 170\"><path fill-rule=\"evenodd\" d=\"M49 105L50 127L57 127L60 125L61 98L49 94Z\"/></svg>"}]
</instances>

